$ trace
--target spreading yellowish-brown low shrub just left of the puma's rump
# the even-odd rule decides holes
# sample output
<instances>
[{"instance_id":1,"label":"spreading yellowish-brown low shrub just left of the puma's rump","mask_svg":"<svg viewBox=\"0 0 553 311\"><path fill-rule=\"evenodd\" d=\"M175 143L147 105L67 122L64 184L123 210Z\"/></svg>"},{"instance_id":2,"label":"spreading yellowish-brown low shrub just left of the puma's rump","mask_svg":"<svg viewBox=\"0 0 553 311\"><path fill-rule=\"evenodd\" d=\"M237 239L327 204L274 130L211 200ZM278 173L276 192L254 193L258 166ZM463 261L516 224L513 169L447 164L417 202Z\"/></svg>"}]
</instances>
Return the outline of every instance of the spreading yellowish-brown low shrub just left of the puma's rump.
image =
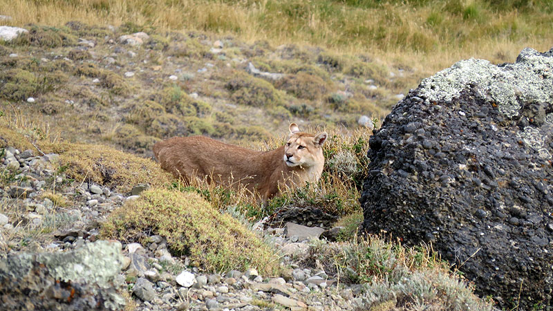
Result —
<instances>
[{"instance_id":1,"label":"spreading yellowish-brown low shrub just left of the puma's rump","mask_svg":"<svg viewBox=\"0 0 553 311\"><path fill-rule=\"evenodd\" d=\"M162 186L171 182L169 173L156 162L133 156L99 144L70 144L66 142L39 144L45 153L58 153L68 169L66 174L75 180L96 182L115 191L129 192L140 183Z\"/></svg>"}]
</instances>

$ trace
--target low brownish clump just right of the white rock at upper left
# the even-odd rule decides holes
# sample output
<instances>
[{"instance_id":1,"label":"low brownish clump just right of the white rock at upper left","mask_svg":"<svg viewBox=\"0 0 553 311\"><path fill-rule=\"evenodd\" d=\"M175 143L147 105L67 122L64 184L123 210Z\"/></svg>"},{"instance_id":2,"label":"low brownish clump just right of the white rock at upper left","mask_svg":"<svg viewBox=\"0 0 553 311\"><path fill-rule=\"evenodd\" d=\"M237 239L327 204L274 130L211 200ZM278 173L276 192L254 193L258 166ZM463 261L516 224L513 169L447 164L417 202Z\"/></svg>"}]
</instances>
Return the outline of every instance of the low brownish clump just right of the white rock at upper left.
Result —
<instances>
[{"instance_id":1,"label":"low brownish clump just right of the white rock at upper left","mask_svg":"<svg viewBox=\"0 0 553 311\"><path fill-rule=\"evenodd\" d=\"M39 46L41 48L59 48L61 46L75 46L77 37L71 34L68 28L48 26L32 26L29 32L22 33L12 40L15 45Z\"/></svg>"}]
</instances>

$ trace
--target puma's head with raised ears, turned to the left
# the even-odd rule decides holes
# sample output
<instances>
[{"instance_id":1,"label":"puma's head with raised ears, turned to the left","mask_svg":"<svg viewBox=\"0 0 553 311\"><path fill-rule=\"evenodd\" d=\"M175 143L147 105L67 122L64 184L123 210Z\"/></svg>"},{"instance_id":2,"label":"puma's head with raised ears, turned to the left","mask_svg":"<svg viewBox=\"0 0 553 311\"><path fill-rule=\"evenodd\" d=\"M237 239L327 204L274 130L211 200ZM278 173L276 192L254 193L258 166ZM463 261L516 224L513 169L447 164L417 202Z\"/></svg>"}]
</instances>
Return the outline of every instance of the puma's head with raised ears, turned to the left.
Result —
<instances>
[{"instance_id":1,"label":"puma's head with raised ears, turned to the left","mask_svg":"<svg viewBox=\"0 0 553 311\"><path fill-rule=\"evenodd\" d=\"M283 160L288 167L313 167L324 163L323 144L326 132L312 134L300 132L297 124L290 124L290 136L284 146Z\"/></svg>"}]
</instances>

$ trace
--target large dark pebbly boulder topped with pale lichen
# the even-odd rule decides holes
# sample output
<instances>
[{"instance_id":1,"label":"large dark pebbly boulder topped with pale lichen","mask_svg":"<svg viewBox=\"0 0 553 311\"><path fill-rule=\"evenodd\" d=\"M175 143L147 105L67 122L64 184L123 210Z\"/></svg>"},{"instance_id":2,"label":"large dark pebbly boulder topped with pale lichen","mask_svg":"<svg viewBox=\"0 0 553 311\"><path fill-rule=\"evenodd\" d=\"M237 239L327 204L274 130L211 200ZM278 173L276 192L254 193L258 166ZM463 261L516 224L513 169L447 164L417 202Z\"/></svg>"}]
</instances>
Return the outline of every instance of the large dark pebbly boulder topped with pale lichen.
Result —
<instances>
[{"instance_id":1,"label":"large dark pebbly boulder topped with pale lichen","mask_svg":"<svg viewBox=\"0 0 553 311\"><path fill-rule=\"evenodd\" d=\"M369 141L363 229L432 243L505 308L553 310L552 55L458 62Z\"/></svg>"}]
</instances>

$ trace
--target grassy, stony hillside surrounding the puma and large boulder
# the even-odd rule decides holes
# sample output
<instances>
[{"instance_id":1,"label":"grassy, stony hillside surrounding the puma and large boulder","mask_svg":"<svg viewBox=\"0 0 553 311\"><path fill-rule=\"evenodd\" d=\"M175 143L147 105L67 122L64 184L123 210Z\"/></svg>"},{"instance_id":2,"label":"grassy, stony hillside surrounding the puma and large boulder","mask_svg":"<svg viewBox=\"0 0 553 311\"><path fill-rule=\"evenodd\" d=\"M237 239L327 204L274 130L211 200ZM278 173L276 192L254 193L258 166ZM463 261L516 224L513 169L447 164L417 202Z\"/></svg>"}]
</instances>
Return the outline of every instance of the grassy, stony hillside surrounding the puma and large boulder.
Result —
<instances>
[{"instance_id":1,"label":"grassy, stony hillside surrounding the puma and large boulder","mask_svg":"<svg viewBox=\"0 0 553 311\"><path fill-rule=\"evenodd\" d=\"M453 62L549 49L550 2L0 1L0 26L28 30L0 41L0 296L75 310L494 310L432 245L357 238L368 140ZM289 122L328 131L324 175L267 205L182 185L152 159L175 135L274 149ZM59 258L97 279L59 272ZM37 270L10 274L25 265Z\"/></svg>"}]
</instances>

